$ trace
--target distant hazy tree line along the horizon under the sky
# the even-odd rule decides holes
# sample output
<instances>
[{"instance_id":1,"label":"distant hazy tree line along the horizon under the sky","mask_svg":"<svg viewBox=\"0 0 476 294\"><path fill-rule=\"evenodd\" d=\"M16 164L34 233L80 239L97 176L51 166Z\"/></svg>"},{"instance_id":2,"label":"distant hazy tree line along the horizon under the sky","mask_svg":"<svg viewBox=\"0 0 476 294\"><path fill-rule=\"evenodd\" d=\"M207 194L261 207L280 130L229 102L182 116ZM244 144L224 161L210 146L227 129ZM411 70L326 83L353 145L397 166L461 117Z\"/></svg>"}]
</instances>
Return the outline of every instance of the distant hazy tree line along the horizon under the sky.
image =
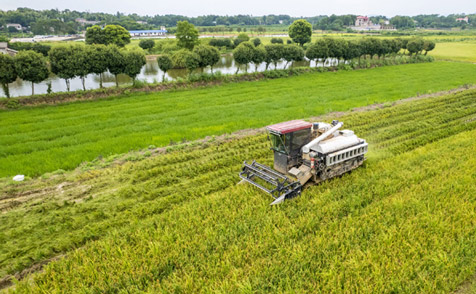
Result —
<instances>
[{"instance_id":1,"label":"distant hazy tree line along the horizon under the sky","mask_svg":"<svg viewBox=\"0 0 476 294\"><path fill-rule=\"evenodd\" d=\"M457 21L458 18L468 16L469 24ZM305 17L314 29L342 31L355 23L357 15L318 15ZM108 14L79 12L71 10L34 10L30 8L18 8L16 10L0 10L0 30L8 32L5 27L7 23L18 23L25 28L29 28L33 33L40 35L47 34L75 34L84 29L84 26L76 22L77 18L84 18L90 21L98 21L101 25L121 25L128 30L154 29L160 26L175 27L179 21L188 21L191 24L201 27L216 26L269 26L269 25L290 25L297 20L289 15L204 15L197 17L187 17L183 15L154 15L141 16L137 14ZM476 14L450 14L448 16L431 14L417 16L395 16L387 18L385 16L370 17L373 23L379 24L381 21L390 21L397 29L413 27L422 28L474 28L476 27ZM146 23L138 23L146 22ZM14 30L13 28L9 28Z\"/></svg>"}]
</instances>

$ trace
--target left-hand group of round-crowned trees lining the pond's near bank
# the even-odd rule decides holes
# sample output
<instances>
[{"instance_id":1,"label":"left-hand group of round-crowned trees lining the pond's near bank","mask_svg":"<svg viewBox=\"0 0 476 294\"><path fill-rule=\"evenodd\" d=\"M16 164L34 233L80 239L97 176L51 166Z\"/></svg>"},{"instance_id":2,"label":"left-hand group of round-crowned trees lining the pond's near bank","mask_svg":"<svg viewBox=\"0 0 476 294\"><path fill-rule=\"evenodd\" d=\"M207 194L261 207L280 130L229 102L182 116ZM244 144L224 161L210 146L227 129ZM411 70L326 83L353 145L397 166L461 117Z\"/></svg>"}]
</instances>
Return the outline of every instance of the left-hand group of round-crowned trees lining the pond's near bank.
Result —
<instances>
[{"instance_id":1,"label":"left-hand group of round-crowned trees lining the pond's near bank","mask_svg":"<svg viewBox=\"0 0 476 294\"><path fill-rule=\"evenodd\" d=\"M51 48L48 58L33 50L19 52L15 57L0 54L0 83L7 97L10 97L9 83L17 77L31 82L32 95L35 83L46 80L50 73L65 80L70 90L70 80L81 78L83 89L86 90L85 78L89 74L98 74L102 88L103 73L109 71L115 76L126 74L135 83L136 76L145 65L145 54L138 50L124 50L118 46L94 44L61 45Z\"/></svg>"}]
</instances>

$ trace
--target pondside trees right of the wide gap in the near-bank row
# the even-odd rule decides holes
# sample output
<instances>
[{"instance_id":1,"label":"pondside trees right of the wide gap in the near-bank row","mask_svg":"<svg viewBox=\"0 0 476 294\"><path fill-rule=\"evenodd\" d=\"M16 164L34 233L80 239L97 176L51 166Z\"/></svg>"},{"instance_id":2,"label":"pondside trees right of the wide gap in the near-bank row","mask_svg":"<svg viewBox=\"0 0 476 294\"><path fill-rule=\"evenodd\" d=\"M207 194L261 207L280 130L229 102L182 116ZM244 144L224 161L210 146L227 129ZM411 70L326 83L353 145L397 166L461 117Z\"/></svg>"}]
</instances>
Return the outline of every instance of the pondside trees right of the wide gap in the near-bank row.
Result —
<instances>
[{"instance_id":1,"label":"pondside trees right of the wide gap in the near-bank row","mask_svg":"<svg viewBox=\"0 0 476 294\"><path fill-rule=\"evenodd\" d=\"M215 44L214 39L210 40L210 44ZM261 41L255 38L240 42L233 50L233 58L239 65L236 71L238 73L240 66L245 66L245 71L247 71L249 64L254 64L255 71L257 71L258 66L262 63L265 63L266 70L268 70L270 65L274 65L274 68L277 69L278 63L284 61L286 62L284 68L286 68L289 64L302 61L305 58L315 61L316 66L318 62L326 64L330 60L341 63L358 59L360 63L362 58L381 59L398 54L426 55L434 48L433 41L422 38L364 38L361 40L322 38L307 44L307 46L300 46L296 43L283 44L283 42L262 45ZM203 69L210 66L213 71L213 66L218 60L218 49L211 45L198 45L191 50L184 48L171 55L163 54L158 57L157 62L165 77L165 73L172 68L186 68L191 74L198 68Z\"/></svg>"}]
</instances>

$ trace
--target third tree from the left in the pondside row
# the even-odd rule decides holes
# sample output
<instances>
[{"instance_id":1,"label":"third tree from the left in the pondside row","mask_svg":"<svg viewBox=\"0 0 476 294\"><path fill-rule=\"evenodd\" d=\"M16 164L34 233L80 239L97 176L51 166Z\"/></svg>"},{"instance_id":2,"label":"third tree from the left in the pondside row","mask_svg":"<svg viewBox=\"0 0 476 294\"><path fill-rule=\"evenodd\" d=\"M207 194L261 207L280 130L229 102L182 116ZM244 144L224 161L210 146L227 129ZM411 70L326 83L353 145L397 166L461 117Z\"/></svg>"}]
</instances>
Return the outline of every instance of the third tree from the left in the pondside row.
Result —
<instances>
[{"instance_id":1,"label":"third tree from the left in the pondside row","mask_svg":"<svg viewBox=\"0 0 476 294\"><path fill-rule=\"evenodd\" d=\"M78 75L77 68L82 66L76 60L76 55L72 45L55 46L49 52L51 71L65 80L68 92L70 80Z\"/></svg>"}]
</instances>

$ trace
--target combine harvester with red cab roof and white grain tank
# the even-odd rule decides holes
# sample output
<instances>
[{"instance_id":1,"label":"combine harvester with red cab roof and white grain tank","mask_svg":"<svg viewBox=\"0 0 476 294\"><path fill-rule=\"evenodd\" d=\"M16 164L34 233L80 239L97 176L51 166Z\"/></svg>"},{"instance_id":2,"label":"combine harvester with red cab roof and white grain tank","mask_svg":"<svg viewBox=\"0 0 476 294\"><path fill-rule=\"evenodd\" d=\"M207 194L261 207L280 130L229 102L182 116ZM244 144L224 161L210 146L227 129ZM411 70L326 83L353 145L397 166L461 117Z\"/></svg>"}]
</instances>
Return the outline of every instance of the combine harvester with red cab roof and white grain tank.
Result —
<instances>
[{"instance_id":1,"label":"combine harvester with red cab roof and white grain tank","mask_svg":"<svg viewBox=\"0 0 476 294\"><path fill-rule=\"evenodd\" d=\"M271 194L274 205L299 196L309 180L317 184L351 171L364 162L368 144L353 131L339 131L342 126L339 121L328 124L302 120L268 126L274 170L256 161L245 161L240 177Z\"/></svg>"}]
</instances>

